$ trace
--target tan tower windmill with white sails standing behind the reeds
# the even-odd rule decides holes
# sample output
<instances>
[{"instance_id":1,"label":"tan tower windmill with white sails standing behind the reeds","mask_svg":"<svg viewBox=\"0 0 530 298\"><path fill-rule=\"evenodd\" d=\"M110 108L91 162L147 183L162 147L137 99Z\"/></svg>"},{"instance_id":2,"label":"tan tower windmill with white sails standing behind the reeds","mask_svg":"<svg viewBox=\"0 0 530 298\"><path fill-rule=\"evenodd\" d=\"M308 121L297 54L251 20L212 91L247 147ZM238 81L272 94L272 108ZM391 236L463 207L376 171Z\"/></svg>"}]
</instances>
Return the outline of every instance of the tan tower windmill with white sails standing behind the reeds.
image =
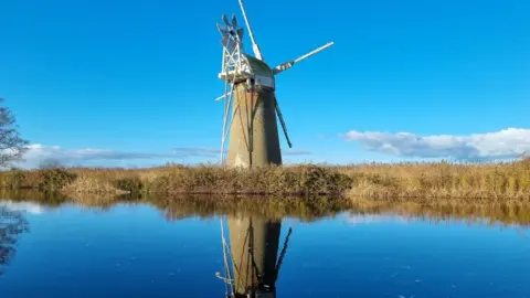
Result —
<instances>
[{"instance_id":1,"label":"tan tower windmill with white sails standing behind the reeds","mask_svg":"<svg viewBox=\"0 0 530 298\"><path fill-rule=\"evenodd\" d=\"M218 23L218 29L221 32L221 44L223 45L222 70L219 78L224 81L224 94L215 99L224 99L221 163L242 168L271 163L282 164L276 116L282 125L287 145L289 148L293 145L275 94L276 75L331 46L333 42L272 68L265 63L256 43L243 1L239 1L252 41L254 56L244 51L244 30L237 26L235 14L232 14L231 21L223 14L224 24ZM226 139L229 139L227 157L224 156Z\"/></svg>"}]
</instances>

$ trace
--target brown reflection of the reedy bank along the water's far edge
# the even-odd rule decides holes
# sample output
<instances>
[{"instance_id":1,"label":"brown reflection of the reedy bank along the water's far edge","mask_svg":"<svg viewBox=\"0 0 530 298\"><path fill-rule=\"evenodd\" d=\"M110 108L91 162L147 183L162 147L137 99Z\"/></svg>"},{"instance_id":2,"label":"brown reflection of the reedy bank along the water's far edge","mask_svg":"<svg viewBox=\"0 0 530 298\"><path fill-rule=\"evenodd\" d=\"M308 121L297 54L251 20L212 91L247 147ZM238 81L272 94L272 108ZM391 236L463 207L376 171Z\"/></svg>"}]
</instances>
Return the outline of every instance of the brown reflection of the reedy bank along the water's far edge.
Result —
<instances>
[{"instance_id":1,"label":"brown reflection of the reedy bank along the water's far edge","mask_svg":"<svg viewBox=\"0 0 530 298\"><path fill-rule=\"evenodd\" d=\"M232 198L212 195L150 195L148 198L102 196L98 194L46 194L40 192L2 193L13 201L35 202L46 207L77 203L83 207L112 210L116 204L153 205L168 221L189 217L212 217L218 215L247 214L282 220L294 217L315 221L335 217L341 213L394 214L402 217L421 219L431 222L464 220L469 223L530 226L530 204L524 203L459 203L438 200L432 204L391 202L378 200L348 200L337 198Z\"/></svg>"}]
</instances>

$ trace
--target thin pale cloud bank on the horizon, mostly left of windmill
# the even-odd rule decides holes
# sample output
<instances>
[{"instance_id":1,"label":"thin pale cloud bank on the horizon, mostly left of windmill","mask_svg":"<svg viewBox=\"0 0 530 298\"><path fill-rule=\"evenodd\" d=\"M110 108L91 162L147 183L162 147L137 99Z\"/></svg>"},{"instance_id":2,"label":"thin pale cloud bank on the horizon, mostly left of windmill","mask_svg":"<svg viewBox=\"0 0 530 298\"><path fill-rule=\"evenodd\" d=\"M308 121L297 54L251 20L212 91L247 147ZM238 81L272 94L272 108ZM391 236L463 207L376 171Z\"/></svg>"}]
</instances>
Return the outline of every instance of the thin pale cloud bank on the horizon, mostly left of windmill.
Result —
<instances>
[{"instance_id":1,"label":"thin pale cloud bank on the horizon, mostly left of windmill","mask_svg":"<svg viewBox=\"0 0 530 298\"><path fill-rule=\"evenodd\" d=\"M59 163L63 166L87 166L87 167L135 167L145 166L146 161L162 164L166 161L189 162L195 161L219 161L220 149L212 148L173 148L168 152L138 152L118 151L94 148L65 149L60 146L44 146L33 143L28 147L23 161L17 163L20 168L38 168L46 163ZM285 156L309 155L308 151L284 150Z\"/></svg>"}]
</instances>

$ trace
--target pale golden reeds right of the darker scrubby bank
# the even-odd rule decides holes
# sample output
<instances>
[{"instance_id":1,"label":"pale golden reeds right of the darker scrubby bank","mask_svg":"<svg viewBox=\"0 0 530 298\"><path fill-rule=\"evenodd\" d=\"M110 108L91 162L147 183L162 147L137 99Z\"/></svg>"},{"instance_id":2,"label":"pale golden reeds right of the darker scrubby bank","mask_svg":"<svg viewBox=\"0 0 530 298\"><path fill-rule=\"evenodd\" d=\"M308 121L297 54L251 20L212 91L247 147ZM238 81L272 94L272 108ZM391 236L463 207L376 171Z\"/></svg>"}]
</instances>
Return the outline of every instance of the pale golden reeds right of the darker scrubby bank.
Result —
<instances>
[{"instance_id":1,"label":"pale golden reeds right of the darker scrubby bank","mask_svg":"<svg viewBox=\"0 0 530 298\"><path fill-rule=\"evenodd\" d=\"M501 163L365 163L338 169L351 198L530 202L530 158Z\"/></svg>"}]
</instances>

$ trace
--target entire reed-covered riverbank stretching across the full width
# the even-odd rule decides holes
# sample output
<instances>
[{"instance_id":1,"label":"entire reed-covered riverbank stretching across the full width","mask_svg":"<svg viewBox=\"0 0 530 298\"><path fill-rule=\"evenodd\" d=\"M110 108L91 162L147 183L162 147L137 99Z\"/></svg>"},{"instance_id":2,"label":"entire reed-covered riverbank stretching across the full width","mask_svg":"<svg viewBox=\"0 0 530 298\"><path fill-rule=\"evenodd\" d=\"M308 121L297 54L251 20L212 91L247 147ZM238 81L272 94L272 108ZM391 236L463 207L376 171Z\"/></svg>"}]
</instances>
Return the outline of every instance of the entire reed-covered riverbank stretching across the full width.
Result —
<instances>
[{"instance_id":1,"label":"entire reed-covered riverbank stretching across the full width","mask_svg":"<svg viewBox=\"0 0 530 298\"><path fill-rule=\"evenodd\" d=\"M39 169L0 172L0 188L70 193L327 194L380 201L530 202L530 159L508 163L284 166L230 170L214 166L148 169Z\"/></svg>"}]
</instances>

